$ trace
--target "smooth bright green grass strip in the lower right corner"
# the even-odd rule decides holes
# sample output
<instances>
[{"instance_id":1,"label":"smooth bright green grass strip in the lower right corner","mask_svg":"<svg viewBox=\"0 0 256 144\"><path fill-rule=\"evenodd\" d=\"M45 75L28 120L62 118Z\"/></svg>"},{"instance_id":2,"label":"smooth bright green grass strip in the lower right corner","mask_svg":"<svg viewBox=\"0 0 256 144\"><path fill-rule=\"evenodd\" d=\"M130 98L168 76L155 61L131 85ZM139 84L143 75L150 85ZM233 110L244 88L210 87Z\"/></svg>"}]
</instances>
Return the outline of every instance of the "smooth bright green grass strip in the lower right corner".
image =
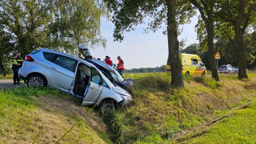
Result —
<instances>
[{"instance_id":1,"label":"smooth bright green grass strip in the lower right corner","mask_svg":"<svg viewBox=\"0 0 256 144\"><path fill-rule=\"evenodd\" d=\"M183 143L255 143L255 115L256 101L253 101L244 109L234 111L230 117L223 118L210 129L191 134Z\"/></svg>"}]
</instances>

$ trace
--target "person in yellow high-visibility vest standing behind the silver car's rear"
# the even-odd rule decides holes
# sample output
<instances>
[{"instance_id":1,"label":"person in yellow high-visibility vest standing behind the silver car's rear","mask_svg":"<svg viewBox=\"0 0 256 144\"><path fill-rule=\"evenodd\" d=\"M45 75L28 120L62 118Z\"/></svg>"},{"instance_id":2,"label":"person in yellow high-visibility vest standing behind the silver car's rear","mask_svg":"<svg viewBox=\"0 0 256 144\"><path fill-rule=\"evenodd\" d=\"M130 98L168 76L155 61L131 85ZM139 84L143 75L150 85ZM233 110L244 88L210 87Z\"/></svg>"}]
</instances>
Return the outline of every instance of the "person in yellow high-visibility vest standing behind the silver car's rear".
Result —
<instances>
[{"instance_id":1,"label":"person in yellow high-visibility vest standing behind the silver car's rear","mask_svg":"<svg viewBox=\"0 0 256 144\"><path fill-rule=\"evenodd\" d=\"M20 80L18 77L18 71L19 71L19 66L21 66L20 63L17 61L18 55L16 53L13 53L12 55L13 58L10 59L11 65L12 65L12 71L13 71L13 84L20 84Z\"/></svg>"}]
</instances>

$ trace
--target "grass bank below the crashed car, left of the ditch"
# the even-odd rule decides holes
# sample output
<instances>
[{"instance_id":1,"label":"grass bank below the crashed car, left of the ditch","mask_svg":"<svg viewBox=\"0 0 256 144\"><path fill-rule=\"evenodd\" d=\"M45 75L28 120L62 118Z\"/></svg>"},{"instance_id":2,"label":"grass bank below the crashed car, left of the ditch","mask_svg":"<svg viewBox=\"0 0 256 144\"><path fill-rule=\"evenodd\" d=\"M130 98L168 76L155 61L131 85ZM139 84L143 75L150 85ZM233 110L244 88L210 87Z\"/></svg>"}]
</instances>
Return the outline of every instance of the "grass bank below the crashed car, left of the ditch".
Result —
<instances>
[{"instance_id":1,"label":"grass bank below the crashed car, left of the ditch","mask_svg":"<svg viewBox=\"0 0 256 144\"><path fill-rule=\"evenodd\" d=\"M90 107L58 90L0 92L0 143L109 143L106 126Z\"/></svg>"}]
</instances>

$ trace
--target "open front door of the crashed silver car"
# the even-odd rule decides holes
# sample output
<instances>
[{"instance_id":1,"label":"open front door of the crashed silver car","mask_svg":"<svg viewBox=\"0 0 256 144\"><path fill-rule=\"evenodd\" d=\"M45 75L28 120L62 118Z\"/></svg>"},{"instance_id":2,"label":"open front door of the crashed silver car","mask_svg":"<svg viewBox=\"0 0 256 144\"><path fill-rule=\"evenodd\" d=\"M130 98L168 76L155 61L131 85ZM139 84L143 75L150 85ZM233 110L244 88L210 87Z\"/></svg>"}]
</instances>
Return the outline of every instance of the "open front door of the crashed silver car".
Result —
<instances>
[{"instance_id":1,"label":"open front door of the crashed silver car","mask_svg":"<svg viewBox=\"0 0 256 144\"><path fill-rule=\"evenodd\" d=\"M83 103L94 101L96 102L98 98L100 97L100 94L102 92L103 86L102 83L102 77L97 69L92 67L91 69L91 79L90 79L90 85L89 89L87 90L87 93L85 94Z\"/></svg>"}]
</instances>

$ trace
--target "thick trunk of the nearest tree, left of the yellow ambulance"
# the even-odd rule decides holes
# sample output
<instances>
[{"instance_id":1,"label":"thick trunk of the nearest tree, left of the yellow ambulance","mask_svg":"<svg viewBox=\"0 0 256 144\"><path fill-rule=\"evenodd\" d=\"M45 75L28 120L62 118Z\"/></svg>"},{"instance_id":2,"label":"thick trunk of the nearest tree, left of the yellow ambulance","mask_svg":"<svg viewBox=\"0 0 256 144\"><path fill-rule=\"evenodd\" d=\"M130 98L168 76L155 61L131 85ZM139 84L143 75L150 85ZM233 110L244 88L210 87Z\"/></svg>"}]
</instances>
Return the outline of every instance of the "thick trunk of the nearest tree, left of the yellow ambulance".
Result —
<instances>
[{"instance_id":1,"label":"thick trunk of the nearest tree, left of the yellow ambulance","mask_svg":"<svg viewBox=\"0 0 256 144\"><path fill-rule=\"evenodd\" d=\"M173 87L184 87L182 66L179 57L178 23L176 21L176 0L166 0L167 4L167 37L169 61L172 70L171 84Z\"/></svg>"}]
</instances>

